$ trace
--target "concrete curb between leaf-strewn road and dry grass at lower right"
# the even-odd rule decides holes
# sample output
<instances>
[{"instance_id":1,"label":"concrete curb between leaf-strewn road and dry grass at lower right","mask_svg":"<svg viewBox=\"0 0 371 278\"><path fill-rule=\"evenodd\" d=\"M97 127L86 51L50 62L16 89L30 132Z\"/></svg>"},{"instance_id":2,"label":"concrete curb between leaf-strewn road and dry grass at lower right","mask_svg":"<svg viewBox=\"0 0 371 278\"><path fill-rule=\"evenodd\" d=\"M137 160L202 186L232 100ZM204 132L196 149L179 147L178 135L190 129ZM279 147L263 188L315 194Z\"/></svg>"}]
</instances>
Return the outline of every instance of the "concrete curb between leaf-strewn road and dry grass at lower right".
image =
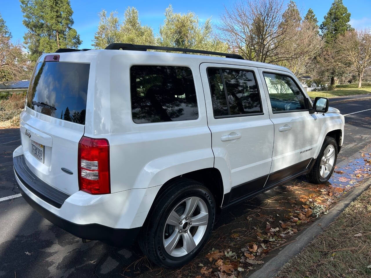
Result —
<instances>
[{"instance_id":1,"label":"concrete curb between leaf-strewn road and dry grass at lower right","mask_svg":"<svg viewBox=\"0 0 371 278\"><path fill-rule=\"evenodd\" d=\"M244 277L249 278L268 278L274 277L281 267L288 262L292 257L301 252L317 235L319 235L334 219L344 211L344 209L353 202L362 192L368 189L371 185L371 179L365 181L362 185L352 189L348 196L336 204L329 213L322 215L318 220L314 221L312 226L306 228L296 240L285 246L272 259L267 261L262 267L257 269L251 275L247 274ZM318 226L321 224L321 226Z\"/></svg>"}]
</instances>

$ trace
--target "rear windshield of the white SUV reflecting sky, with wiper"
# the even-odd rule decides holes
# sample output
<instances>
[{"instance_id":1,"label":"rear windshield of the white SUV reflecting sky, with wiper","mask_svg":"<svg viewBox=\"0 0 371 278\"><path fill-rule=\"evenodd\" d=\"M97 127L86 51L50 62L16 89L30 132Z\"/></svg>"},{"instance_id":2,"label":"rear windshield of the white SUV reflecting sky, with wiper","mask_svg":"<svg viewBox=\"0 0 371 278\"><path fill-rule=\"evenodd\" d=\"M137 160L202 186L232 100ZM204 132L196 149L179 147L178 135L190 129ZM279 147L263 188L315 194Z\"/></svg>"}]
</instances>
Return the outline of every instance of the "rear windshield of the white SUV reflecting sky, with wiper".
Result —
<instances>
[{"instance_id":1,"label":"rear windshield of the white SUV reflecting sky, with wiper","mask_svg":"<svg viewBox=\"0 0 371 278\"><path fill-rule=\"evenodd\" d=\"M42 114L85 124L90 64L40 62L27 93L27 106Z\"/></svg>"}]
</instances>

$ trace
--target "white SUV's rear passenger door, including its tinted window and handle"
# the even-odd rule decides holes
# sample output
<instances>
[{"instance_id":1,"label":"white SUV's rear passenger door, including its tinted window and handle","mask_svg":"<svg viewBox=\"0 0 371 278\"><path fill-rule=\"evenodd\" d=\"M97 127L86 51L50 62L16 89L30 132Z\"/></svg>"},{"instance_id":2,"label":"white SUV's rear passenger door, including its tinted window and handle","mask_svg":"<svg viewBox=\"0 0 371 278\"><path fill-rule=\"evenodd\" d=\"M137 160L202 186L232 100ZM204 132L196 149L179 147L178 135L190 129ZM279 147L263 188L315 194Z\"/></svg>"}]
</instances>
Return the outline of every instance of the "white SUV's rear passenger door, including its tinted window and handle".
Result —
<instances>
[{"instance_id":1,"label":"white SUV's rear passenger door, including its tinted window and handle","mask_svg":"<svg viewBox=\"0 0 371 278\"><path fill-rule=\"evenodd\" d=\"M255 67L202 63L200 73L215 167L230 176L224 206L263 188L272 163L273 123Z\"/></svg>"}]
</instances>

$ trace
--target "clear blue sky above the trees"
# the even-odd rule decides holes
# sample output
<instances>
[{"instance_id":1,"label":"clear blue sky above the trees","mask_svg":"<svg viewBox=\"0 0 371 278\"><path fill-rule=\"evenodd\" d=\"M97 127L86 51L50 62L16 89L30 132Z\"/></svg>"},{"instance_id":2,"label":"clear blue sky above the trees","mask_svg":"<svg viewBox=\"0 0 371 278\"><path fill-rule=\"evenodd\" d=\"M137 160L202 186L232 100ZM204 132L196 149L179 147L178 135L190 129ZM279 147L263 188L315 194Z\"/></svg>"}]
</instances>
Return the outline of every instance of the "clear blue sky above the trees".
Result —
<instances>
[{"instance_id":1,"label":"clear blue sky above the trees","mask_svg":"<svg viewBox=\"0 0 371 278\"><path fill-rule=\"evenodd\" d=\"M224 6L230 7L233 0L188 0L188 1L124 1L124 0L90 0L77 1L71 0L74 11L73 28L77 30L82 39L81 48L91 48L92 39L97 29L99 18L98 13L102 9L107 11L116 10L122 17L128 6L137 8L139 20L142 24L148 24L158 33L158 26L164 20L164 11L169 4L173 5L174 11L187 13L193 11L198 15L201 22L211 17L214 24L224 11ZM322 22L324 15L331 6L332 0L297 0L296 4L304 14L312 8L317 16L319 23ZM371 0L343 0L348 11L351 13L351 24L355 28L371 27ZM20 9L19 1L0 0L0 13L6 21L7 26L13 35L13 40L23 41L23 34L26 28L22 24L23 14Z\"/></svg>"}]
</instances>

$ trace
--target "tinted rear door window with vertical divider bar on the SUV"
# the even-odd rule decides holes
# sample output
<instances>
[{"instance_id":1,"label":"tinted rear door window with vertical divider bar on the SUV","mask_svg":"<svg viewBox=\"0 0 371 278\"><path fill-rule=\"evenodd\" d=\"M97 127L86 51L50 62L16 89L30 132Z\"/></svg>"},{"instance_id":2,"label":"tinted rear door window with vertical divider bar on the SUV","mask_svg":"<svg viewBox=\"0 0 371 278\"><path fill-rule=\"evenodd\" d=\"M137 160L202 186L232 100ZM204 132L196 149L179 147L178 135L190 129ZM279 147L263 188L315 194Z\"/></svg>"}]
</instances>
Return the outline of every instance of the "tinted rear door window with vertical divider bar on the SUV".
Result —
<instances>
[{"instance_id":1,"label":"tinted rear door window with vertical divider bar on the SUV","mask_svg":"<svg viewBox=\"0 0 371 278\"><path fill-rule=\"evenodd\" d=\"M259 91L253 72L208 68L214 117L261 113Z\"/></svg>"}]
</instances>

